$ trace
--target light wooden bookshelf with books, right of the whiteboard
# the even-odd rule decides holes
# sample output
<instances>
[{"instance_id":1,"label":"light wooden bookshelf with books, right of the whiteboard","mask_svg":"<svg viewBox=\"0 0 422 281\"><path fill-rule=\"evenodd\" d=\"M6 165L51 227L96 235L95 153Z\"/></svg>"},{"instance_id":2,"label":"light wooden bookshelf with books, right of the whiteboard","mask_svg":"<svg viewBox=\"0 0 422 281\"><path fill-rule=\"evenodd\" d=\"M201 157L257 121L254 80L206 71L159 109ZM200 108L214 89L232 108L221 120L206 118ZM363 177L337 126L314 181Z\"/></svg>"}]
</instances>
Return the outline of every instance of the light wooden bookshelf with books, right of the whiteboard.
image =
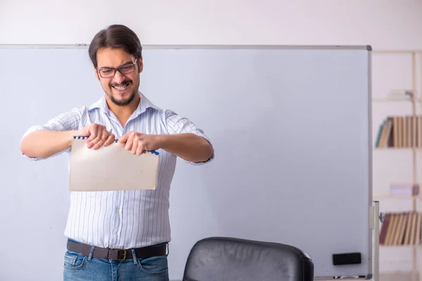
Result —
<instances>
[{"instance_id":1,"label":"light wooden bookshelf with books, right of the whiteboard","mask_svg":"<svg viewBox=\"0 0 422 281\"><path fill-rule=\"evenodd\" d=\"M404 115L385 116L382 124L373 127L377 132L373 150L404 150L411 153L411 183L421 185L421 163L418 153L422 152L422 50L373 51L373 54L397 55L406 54L411 58L411 89L392 89L383 98L373 98L372 103L381 105L393 103L409 103L411 110ZM418 71L416 69L418 68ZM417 77L418 76L418 77ZM376 155L374 155L376 157ZM400 179L397 179L400 181ZM422 203L422 190L417 195L375 194L374 200L397 200L409 206L407 211L386 211L380 226L379 241L381 247L411 247L413 249L412 272L418 272L422 281L422 212L418 210L418 202ZM420 255L416 266L417 254Z\"/></svg>"}]
</instances>

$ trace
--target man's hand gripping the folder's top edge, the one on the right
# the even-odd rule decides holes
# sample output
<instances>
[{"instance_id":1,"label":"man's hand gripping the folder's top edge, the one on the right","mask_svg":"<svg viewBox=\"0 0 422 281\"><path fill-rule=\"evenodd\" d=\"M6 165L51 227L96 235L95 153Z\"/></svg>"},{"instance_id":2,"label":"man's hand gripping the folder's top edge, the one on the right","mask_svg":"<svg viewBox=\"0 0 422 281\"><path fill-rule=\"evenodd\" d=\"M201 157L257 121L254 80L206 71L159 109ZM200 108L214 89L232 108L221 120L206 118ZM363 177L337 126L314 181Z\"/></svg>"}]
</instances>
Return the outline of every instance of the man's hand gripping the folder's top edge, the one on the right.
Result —
<instances>
[{"instance_id":1,"label":"man's hand gripping the folder's top edge, the one on the right","mask_svg":"<svg viewBox=\"0 0 422 281\"><path fill-rule=\"evenodd\" d=\"M130 150L132 154L141 155L148 150L158 150L160 148L160 136L131 131L118 138L118 143L125 150Z\"/></svg>"}]
</instances>

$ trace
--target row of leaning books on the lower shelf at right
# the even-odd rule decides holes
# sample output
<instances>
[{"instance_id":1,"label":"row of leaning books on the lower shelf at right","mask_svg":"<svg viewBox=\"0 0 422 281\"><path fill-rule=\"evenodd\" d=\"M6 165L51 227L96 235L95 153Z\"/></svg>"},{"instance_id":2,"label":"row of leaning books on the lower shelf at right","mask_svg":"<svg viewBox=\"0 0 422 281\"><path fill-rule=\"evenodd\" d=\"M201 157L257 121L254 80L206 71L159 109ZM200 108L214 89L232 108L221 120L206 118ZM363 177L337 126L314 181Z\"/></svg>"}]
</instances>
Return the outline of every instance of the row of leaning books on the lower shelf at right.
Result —
<instances>
[{"instance_id":1,"label":"row of leaning books on the lower shelf at right","mask_svg":"<svg viewBox=\"0 0 422 281\"><path fill-rule=\"evenodd\" d=\"M418 245L421 243L421 213L389 212L381 224L379 242L384 246Z\"/></svg>"}]
</instances>

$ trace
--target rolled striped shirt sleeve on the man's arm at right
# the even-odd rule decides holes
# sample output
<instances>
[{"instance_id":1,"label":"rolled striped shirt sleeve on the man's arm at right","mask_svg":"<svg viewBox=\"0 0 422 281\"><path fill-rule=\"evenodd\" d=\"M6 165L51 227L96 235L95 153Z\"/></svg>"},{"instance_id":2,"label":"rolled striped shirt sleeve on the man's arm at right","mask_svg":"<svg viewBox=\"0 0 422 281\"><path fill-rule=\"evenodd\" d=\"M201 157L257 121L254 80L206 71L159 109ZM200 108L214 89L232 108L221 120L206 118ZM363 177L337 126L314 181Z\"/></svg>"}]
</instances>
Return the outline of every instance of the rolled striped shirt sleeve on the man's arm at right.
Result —
<instances>
[{"instance_id":1,"label":"rolled striped shirt sleeve on the man's arm at right","mask_svg":"<svg viewBox=\"0 0 422 281\"><path fill-rule=\"evenodd\" d=\"M181 117L181 116L177 115L175 112L173 112L172 110L166 110L165 111L165 124L167 126L167 132L168 133L172 133L172 134L174 134L174 133L194 133L194 134L196 134L196 136L200 136L201 138L205 138L205 140L207 140L207 142L210 143L210 145L212 146L210 138L205 136L205 133L203 132L203 130L197 128L195 126L195 124L193 124L193 122L191 122L186 117ZM213 159L214 159L214 148L212 149L211 157L209 159L207 159L206 161L204 161L204 162L186 161L186 163L193 164L193 165L202 165L202 164L206 164L208 162L211 162Z\"/></svg>"}]
</instances>

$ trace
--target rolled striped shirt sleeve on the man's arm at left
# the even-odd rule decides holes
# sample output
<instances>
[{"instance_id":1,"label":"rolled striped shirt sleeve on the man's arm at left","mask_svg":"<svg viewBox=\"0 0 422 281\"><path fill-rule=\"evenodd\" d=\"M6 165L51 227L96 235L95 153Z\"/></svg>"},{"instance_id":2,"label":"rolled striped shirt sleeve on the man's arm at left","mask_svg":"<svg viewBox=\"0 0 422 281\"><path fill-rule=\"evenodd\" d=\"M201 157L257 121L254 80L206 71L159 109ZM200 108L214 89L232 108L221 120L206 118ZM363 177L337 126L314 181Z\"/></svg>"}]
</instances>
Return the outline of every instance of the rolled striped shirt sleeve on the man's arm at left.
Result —
<instances>
[{"instance_id":1,"label":"rolled striped shirt sleeve on the man's arm at left","mask_svg":"<svg viewBox=\"0 0 422 281\"><path fill-rule=\"evenodd\" d=\"M50 130L50 131L70 131L70 130L77 130L79 129L79 120L82 117L82 110L78 108L74 108L73 110L70 110L69 112L61 113L60 115L57 115L56 117L53 117L53 119L50 119L45 124L37 124L30 126L27 131L23 134L23 137L20 139L22 142L23 138L25 136L29 135L30 133L33 133L34 131L40 131L40 130ZM51 157L57 156L62 154L63 152L70 152L70 148L67 150L62 150L55 155L52 155ZM38 161L45 158L39 158L39 157L27 157L25 154L23 154L23 157L26 159Z\"/></svg>"}]
</instances>

